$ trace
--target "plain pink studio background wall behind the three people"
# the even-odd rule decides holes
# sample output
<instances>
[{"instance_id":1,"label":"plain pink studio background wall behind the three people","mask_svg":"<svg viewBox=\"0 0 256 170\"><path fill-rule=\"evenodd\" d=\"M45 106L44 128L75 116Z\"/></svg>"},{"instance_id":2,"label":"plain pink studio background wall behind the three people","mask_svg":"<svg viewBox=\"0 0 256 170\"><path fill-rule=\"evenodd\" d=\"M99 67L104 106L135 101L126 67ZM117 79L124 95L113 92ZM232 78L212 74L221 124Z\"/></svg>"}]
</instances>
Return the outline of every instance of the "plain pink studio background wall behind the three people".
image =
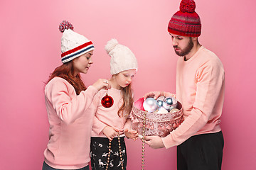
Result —
<instances>
[{"instance_id":1,"label":"plain pink studio background wall behind the three people","mask_svg":"<svg viewBox=\"0 0 256 170\"><path fill-rule=\"evenodd\" d=\"M43 89L61 64L58 25L64 19L95 44L94 64L83 75L89 86L110 78L107 40L127 45L137 56L135 99L148 91L175 93L176 60L167 33L179 0L3 1L0 2L0 169L41 169L48 142ZM203 25L199 41L225 67L222 116L223 169L256 169L255 0L197 0ZM141 169L140 140L127 140L128 167ZM176 147L146 147L146 169L176 169Z\"/></svg>"}]
</instances>

